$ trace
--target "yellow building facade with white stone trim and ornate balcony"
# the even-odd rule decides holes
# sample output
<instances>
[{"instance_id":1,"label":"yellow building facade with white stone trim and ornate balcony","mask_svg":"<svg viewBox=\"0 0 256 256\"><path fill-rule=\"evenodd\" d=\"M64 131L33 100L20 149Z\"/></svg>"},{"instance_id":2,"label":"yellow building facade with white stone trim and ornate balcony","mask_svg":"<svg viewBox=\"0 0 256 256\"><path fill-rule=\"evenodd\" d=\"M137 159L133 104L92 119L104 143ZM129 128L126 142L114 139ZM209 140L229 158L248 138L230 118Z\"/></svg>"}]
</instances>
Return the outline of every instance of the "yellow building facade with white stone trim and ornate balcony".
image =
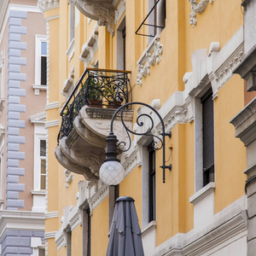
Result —
<instances>
[{"instance_id":1,"label":"yellow building facade with white stone trim and ornate balcony","mask_svg":"<svg viewBox=\"0 0 256 256\"><path fill-rule=\"evenodd\" d=\"M48 255L105 255L114 201L123 195L135 200L147 256L253 255L247 148L230 120L254 97L234 71L246 55L244 12L255 2L38 0L48 37ZM104 87L93 105L90 86L113 78L127 86L118 89L122 101ZM159 143L160 120L140 104L125 111L125 124L143 134L150 121L140 126L137 116L147 113L150 136L131 136L118 186L99 178L111 117L124 102L150 105L172 131L165 183L161 150L150 147ZM113 130L129 142L119 118Z\"/></svg>"}]
</instances>

